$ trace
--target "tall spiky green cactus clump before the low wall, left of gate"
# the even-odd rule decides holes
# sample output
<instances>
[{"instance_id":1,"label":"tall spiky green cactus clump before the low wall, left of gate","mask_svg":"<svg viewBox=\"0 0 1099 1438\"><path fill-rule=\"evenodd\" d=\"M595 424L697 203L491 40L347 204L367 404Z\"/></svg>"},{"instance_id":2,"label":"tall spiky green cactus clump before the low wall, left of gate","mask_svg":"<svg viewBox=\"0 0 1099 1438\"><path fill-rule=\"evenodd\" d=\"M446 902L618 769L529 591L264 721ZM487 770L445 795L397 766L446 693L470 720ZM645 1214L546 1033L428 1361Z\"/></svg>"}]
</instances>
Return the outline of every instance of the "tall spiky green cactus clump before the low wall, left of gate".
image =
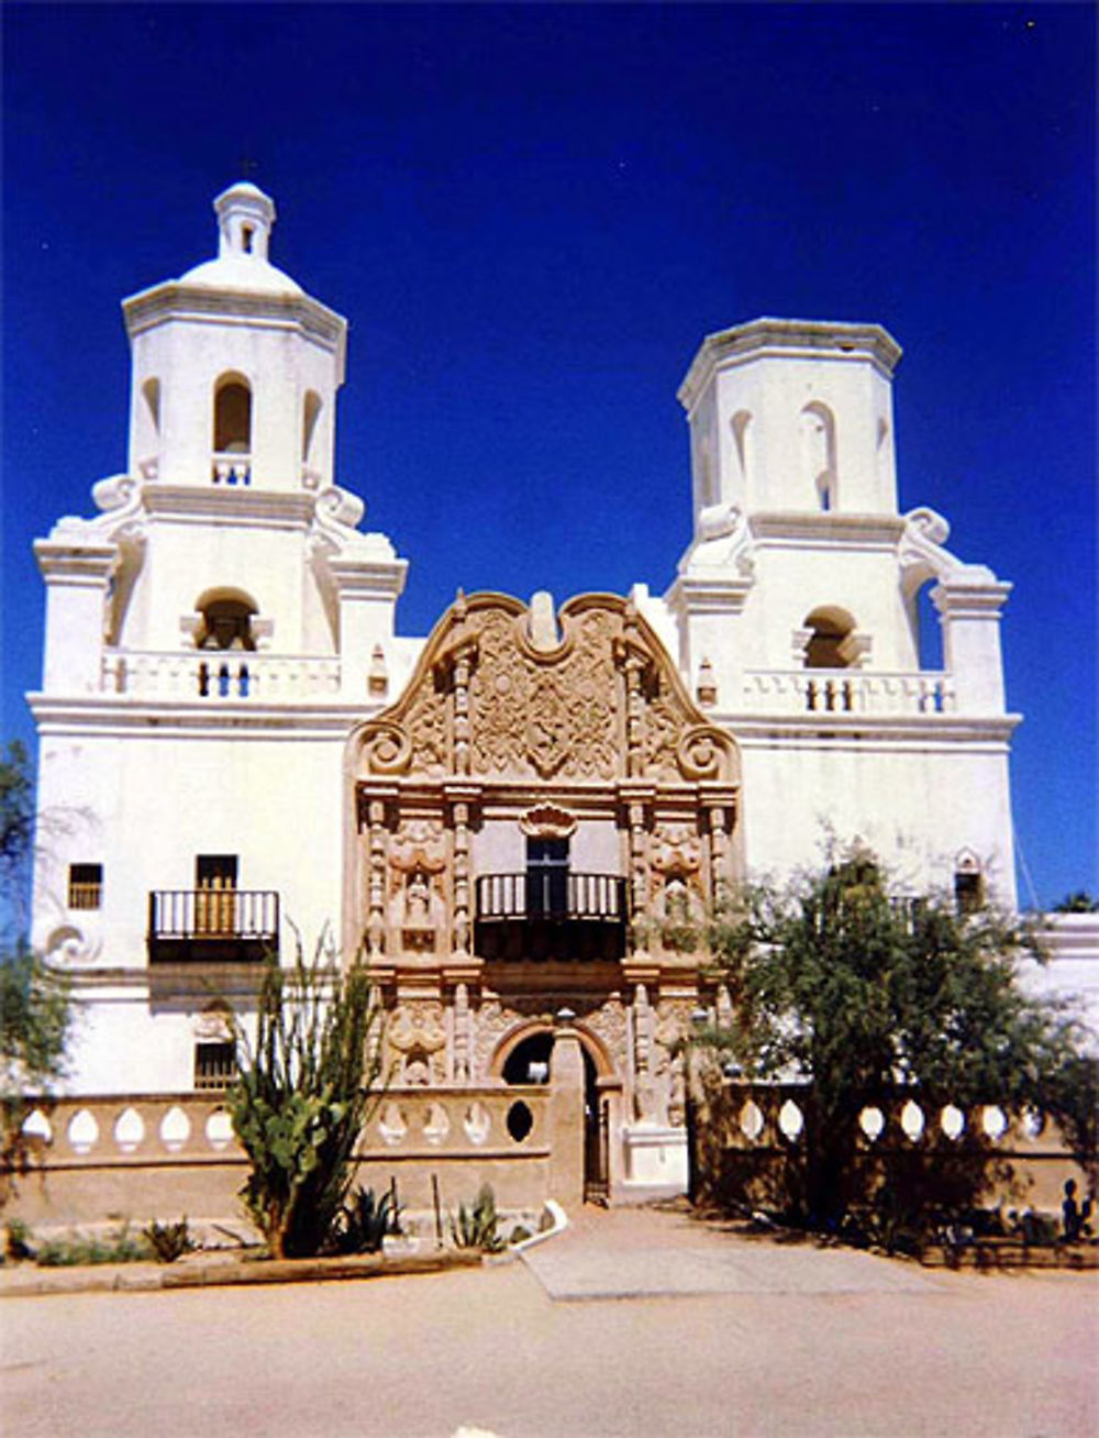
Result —
<instances>
[{"instance_id":1,"label":"tall spiky green cactus clump before the low wall, left of gate","mask_svg":"<svg viewBox=\"0 0 1099 1438\"><path fill-rule=\"evenodd\" d=\"M317 946L264 966L256 1043L237 1030L233 1127L251 1163L244 1206L273 1257L317 1252L355 1178L355 1146L381 1099L382 1008L366 966Z\"/></svg>"}]
</instances>

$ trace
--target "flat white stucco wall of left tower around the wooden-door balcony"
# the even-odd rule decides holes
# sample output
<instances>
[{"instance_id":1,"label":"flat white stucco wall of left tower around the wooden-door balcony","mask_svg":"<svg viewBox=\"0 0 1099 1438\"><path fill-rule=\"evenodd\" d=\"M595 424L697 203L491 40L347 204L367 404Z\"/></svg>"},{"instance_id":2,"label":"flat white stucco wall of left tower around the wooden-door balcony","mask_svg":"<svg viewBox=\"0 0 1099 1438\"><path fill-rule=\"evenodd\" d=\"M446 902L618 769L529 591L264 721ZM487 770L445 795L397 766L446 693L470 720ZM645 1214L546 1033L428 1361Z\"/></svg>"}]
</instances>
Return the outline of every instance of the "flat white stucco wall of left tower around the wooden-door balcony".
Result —
<instances>
[{"instance_id":1,"label":"flat white stucco wall of left tower around the wooden-door balcony","mask_svg":"<svg viewBox=\"0 0 1099 1438\"><path fill-rule=\"evenodd\" d=\"M148 896L195 887L198 854L237 854L238 887L277 890L312 949L338 928L342 893L343 738L149 726L46 736L40 749L40 858L34 942L88 933L78 968L144 968ZM102 910L70 912L68 867L103 864Z\"/></svg>"}]
</instances>

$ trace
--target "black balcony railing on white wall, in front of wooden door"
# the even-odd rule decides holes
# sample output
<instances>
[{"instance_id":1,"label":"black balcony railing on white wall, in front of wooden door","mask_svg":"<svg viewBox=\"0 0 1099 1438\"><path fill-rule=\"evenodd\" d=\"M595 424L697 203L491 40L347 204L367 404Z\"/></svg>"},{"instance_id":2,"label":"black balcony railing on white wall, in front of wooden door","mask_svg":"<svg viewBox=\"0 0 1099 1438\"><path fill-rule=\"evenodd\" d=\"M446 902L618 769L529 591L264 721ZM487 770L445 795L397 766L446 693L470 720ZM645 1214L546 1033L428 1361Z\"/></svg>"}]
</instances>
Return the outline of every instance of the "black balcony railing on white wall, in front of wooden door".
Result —
<instances>
[{"instance_id":1,"label":"black balcony railing on white wall, in front of wooden door","mask_svg":"<svg viewBox=\"0 0 1099 1438\"><path fill-rule=\"evenodd\" d=\"M152 963L257 963L279 949L279 894L249 889L157 889Z\"/></svg>"}]
</instances>

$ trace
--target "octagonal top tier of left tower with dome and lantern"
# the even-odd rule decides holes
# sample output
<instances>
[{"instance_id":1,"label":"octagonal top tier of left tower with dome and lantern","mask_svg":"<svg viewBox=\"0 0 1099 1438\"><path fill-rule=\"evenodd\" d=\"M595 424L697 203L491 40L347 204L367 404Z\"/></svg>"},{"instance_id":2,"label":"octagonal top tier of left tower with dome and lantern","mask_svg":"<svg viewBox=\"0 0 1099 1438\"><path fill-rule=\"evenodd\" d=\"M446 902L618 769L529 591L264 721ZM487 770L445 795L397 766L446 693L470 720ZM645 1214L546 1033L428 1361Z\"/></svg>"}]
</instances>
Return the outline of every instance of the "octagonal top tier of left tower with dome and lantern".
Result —
<instances>
[{"instance_id":1,"label":"octagonal top tier of left tower with dome and lantern","mask_svg":"<svg viewBox=\"0 0 1099 1438\"><path fill-rule=\"evenodd\" d=\"M267 255L274 203L214 201L218 255L125 301L129 469L165 485L317 492L332 483L346 321Z\"/></svg>"}]
</instances>

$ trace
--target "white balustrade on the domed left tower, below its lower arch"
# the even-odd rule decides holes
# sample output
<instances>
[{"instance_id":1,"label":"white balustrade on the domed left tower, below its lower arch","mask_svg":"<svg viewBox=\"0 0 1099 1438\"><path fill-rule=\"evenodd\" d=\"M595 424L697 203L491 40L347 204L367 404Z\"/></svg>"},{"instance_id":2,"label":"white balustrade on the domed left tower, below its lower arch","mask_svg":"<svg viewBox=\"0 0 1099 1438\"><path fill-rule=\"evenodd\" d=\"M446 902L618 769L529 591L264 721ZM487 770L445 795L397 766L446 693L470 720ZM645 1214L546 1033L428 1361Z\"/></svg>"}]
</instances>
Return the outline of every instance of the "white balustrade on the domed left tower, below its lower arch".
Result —
<instances>
[{"instance_id":1,"label":"white balustrade on the domed left tower, below its lower arch","mask_svg":"<svg viewBox=\"0 0 1099 1438\"><path fill-rule=\"evenodd\" d=\"M171 699L257 699L264 703L339 693L339 660L246 650L177 653L111 650L105 693Z\"/></svg>"}]
</instances>

